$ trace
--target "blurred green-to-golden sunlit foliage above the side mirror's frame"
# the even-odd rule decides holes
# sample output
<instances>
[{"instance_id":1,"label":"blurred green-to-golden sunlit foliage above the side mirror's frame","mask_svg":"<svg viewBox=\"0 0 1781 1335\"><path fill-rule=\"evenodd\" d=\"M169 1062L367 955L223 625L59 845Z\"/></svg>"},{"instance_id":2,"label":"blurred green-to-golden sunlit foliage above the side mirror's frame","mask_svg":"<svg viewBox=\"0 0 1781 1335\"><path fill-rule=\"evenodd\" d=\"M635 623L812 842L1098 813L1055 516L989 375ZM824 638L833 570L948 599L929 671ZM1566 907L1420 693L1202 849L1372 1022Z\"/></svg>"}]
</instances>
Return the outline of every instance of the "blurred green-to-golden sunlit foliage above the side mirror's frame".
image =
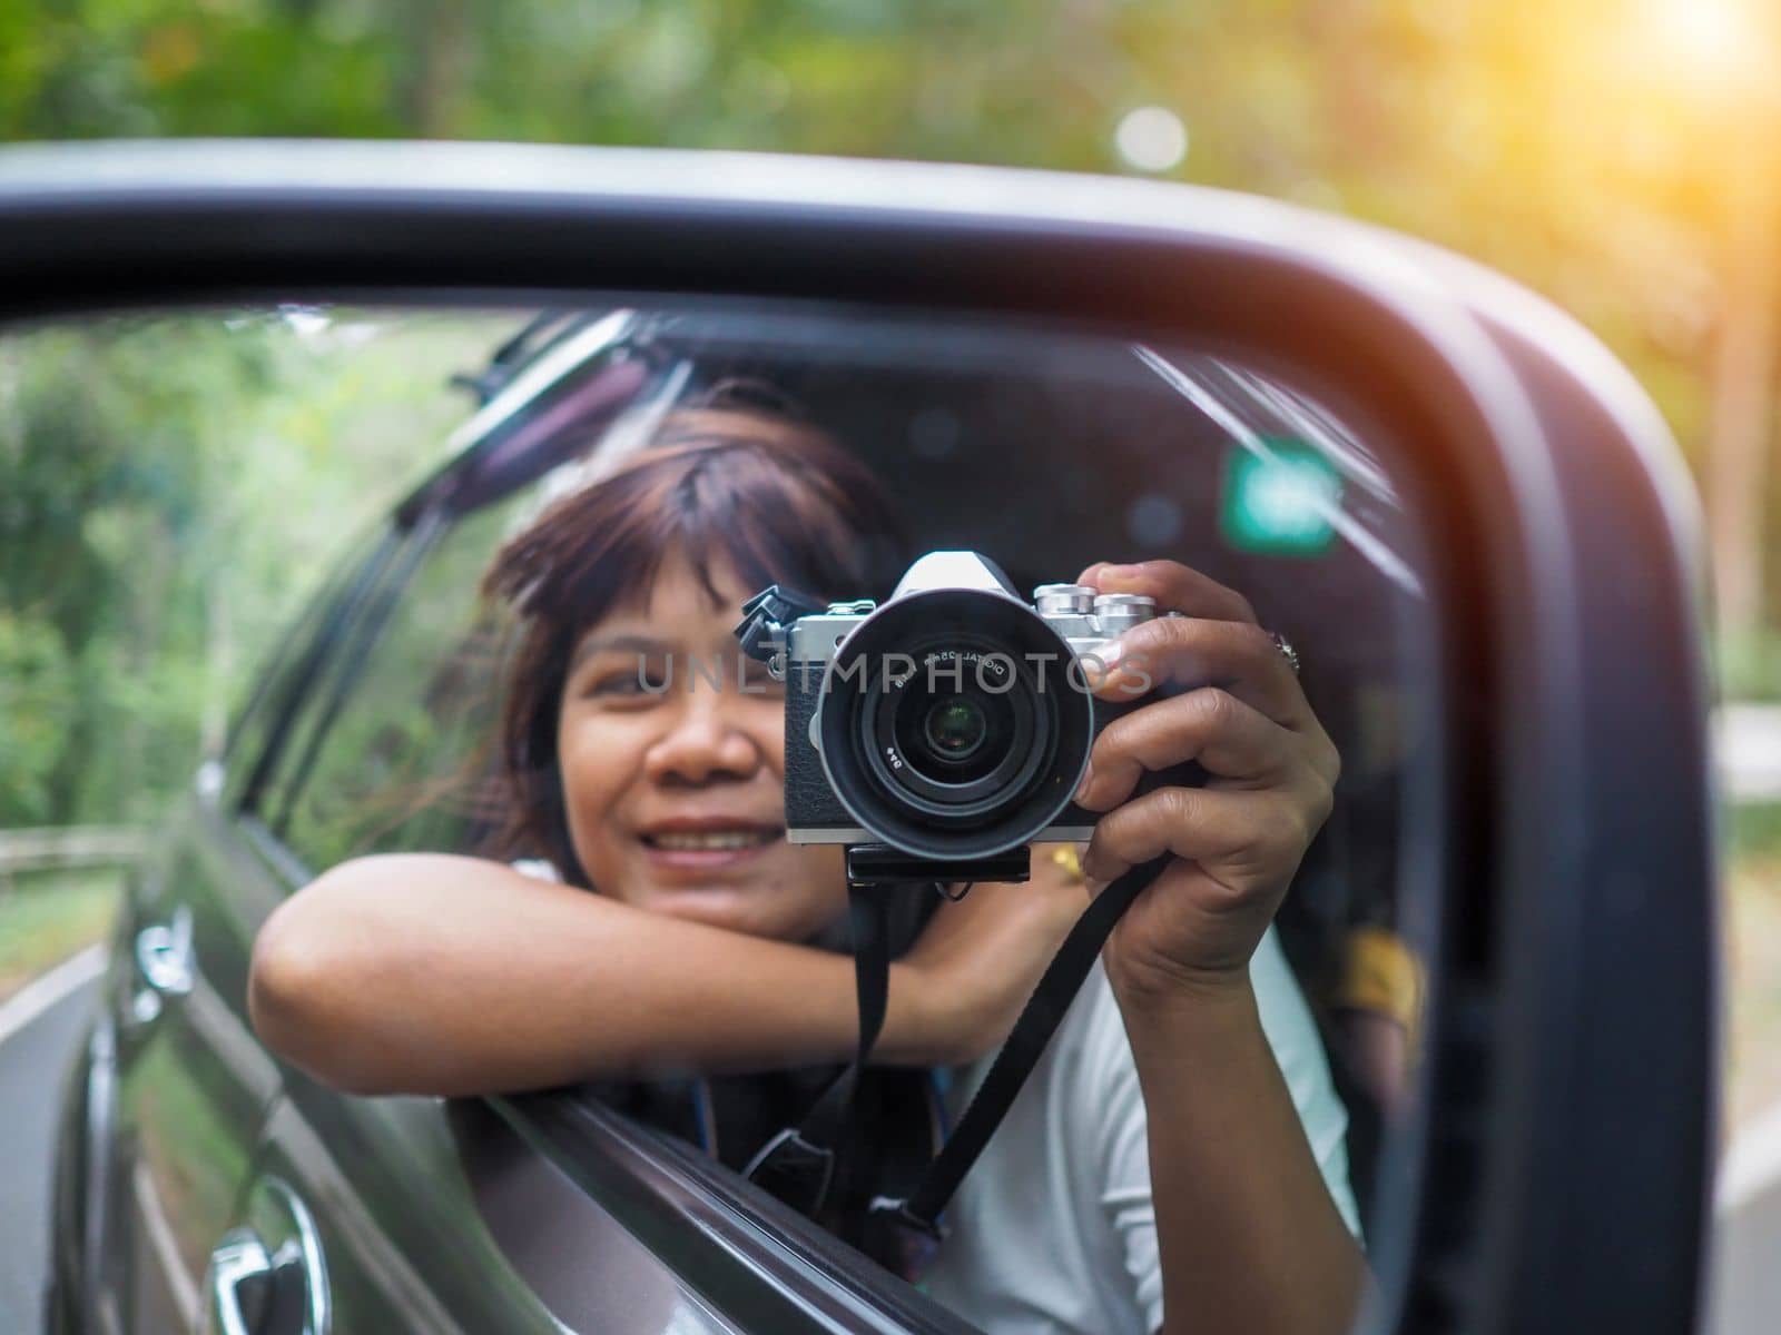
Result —
<instances>
[{"instance_id":1,"label":"blurred green-to-golden sunlit foliage above the side mirror's frame","mask_svg":"<svg viewBox=\"0 0 1781 1335\"><path fill-rule=\"evenodd\" d=\"M410 135L1170 174L1375 219L1558 299L1703 436L1720 185L1761 144L1692 0L11 0L0 139ZM1751 0L1699 0L1724 9ZM1719 57L1713 57L1719 59Z\"/></svg>"}]
</instances>

